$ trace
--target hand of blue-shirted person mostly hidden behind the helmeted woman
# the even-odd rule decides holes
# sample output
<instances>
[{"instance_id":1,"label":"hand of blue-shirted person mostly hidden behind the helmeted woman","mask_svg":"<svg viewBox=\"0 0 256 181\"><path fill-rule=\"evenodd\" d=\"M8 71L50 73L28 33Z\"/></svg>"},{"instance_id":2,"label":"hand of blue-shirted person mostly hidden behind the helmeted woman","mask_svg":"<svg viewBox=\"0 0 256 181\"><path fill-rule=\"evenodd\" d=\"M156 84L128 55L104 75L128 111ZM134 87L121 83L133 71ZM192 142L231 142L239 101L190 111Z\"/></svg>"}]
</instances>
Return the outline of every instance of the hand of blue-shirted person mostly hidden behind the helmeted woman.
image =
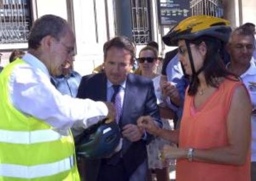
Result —
<instances>
[{"instance_id":1,"label":"hand of blue-shirted person mostly hidden behind the helmeted woman","mask_svg":"<svg viewBox=\"0 0 256 181\"><path fill-rule=\"evenodd\" d=\"M179 91L173 82L164 82L161 86L161 89L164 97L169 97L171 102L173 102L176 106L181 105L181 97L179 95Z\"/></svg>"}]
</instances>

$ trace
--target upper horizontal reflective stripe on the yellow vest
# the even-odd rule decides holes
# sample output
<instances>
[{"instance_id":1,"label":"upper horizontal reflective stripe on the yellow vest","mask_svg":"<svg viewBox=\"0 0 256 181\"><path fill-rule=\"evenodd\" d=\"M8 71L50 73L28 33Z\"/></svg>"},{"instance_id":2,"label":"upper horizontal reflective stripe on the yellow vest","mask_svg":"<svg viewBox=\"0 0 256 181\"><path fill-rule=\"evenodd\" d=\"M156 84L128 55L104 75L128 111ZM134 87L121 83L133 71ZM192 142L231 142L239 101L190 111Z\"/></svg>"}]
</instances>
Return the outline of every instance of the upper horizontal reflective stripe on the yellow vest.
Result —
<instances>
[{"instance_id":1,"label":"upper horizontal reflective stripe on the yellow vest","mask_svg":"<svg viewBox=\"0 0 256 181\"><path fill-rule=\"evenodd\" d=\"M60 140L63 137L52 129L42 129L38 131L7 131L0 129L0 135L0 142L15 144L52 142Z\"/></svg>"}]
</instances>

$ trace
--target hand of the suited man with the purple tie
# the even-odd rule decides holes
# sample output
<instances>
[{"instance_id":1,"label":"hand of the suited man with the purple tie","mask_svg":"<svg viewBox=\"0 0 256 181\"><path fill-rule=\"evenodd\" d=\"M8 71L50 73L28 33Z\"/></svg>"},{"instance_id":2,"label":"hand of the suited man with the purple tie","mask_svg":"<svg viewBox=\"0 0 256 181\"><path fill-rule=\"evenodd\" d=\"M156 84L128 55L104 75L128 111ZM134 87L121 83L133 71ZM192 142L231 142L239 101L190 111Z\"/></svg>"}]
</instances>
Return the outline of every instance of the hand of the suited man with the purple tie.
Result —
<instances>
[{"instance_id":1,"label":"hand of the suited man with the purple tie","mask_svg":"<svg viewBox=\"0 0 256 181\"><path fill-rule=\"evenodd\" d=\"M135 124L127 124L122 128L122 136L130 142L137 142L142 138L144 130Z\"/></svg>"}]
</instances>

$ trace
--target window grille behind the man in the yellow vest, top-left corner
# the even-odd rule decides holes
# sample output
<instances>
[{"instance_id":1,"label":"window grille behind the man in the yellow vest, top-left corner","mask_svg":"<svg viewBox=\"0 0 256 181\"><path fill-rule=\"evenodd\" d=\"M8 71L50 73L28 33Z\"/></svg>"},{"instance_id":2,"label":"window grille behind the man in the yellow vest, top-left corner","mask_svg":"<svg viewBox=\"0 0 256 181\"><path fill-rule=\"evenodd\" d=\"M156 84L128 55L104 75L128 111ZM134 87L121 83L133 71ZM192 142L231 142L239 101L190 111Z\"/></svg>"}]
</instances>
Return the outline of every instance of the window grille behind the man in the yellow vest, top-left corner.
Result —
<instances>
[{"instance_id":1,"label":"window grille behind the man in the yellow vest, top-left corner","mask_svg":"<svg viewBox=\"0 0 256 181\"><path fill-rule=\"evenodd\" d=\"M27 42L31 25L29 0L0 0L0 44Z\"/></svg>"}]
</instances>

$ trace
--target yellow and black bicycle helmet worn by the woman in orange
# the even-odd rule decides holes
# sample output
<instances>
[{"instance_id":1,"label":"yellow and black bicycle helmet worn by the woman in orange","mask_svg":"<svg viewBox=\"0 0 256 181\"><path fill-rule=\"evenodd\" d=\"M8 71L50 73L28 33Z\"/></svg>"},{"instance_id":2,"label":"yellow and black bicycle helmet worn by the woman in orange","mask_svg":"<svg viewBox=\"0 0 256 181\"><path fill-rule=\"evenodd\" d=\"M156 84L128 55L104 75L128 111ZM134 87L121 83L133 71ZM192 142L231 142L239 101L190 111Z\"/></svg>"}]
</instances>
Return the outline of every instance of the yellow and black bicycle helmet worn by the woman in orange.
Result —
<instances>
[{"instance_id":1,"label":"yellow and black bicycle helmet worn by the woman in orange","mask_svg":"<svg viewBox=\"0 0 256 181\"><path fill-rule=\"evenodd\" d=\"M200 36L210 36L228 42L231 33L230 22L223 18L197 15L186 18L174 26L165 36L164 44L177 46L179 39L193 40Z\"/></svg>"}]
</instances>

